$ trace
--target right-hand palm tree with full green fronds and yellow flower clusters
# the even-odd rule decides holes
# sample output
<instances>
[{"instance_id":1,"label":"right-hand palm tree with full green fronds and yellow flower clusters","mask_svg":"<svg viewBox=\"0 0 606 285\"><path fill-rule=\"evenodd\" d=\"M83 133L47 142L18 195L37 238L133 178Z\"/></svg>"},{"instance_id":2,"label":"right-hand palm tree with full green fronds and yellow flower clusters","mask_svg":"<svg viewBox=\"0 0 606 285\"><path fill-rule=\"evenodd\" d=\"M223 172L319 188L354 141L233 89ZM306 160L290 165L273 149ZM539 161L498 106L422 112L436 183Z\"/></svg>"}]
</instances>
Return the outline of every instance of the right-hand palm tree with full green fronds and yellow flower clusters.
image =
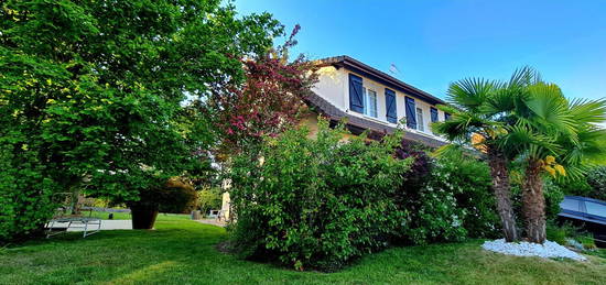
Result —
<instances>
[{"instance_id":1,"label":"right-hand palm tree with full green fronds and yellow flower clusters","mask_svg":"<svg viewBox=\"0 0 606 285\"><path fill-rule=\"evenodd\" d=\"M606 100L570 102L554 84L534 80L523 86L507 111L507 133L498 147L524 162L522 215L531 242L545 241L545 201L542 176L580 176L587 158L604 155L606 131L597 123L606 118Z\"/></svg>"}]
</instances>

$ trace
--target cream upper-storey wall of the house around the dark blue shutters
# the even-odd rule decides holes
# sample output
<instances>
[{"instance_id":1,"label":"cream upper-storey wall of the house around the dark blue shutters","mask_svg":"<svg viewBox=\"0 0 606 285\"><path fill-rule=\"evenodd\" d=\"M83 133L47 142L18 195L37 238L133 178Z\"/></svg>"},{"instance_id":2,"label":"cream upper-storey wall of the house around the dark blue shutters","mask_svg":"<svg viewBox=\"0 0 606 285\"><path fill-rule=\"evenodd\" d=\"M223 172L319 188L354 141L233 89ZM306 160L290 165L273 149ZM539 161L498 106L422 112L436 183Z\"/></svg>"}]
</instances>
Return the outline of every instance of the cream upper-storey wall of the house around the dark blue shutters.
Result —
<instances>
[{"instance_id":1,"label":"cream upper-storey wall of the house around the dark blue shutters","mask_svg":"<svg viewBox=\"0 0 606 285\"><path fill-rule=\"evenodd\" d=\"M376 122L396 128L398 124L388 122L387 120L385 89L388 88L396 92L396 111L397 111L398 122L402 122L401 125L407 131L415 132L419 134L423 134L423 135L443 141L442 138L434 135L432 133L431 127L430 127L431 125L430 108L431 107L435 108L435 106L426 101L423 101L415 96L401 92L392 87L385 86L380 83L371 80L368 77L365 77L360 74L356 74L346 68L337 69L334 66L325 66L320 68L318 74L320 74L318 83L314 86L313 91L320 97L331 102L336 108L340 109L342 111L345 111L350 116L360 117L366 120L376 121ZM366 89L375 90L377 92L377 118L372 118L359 112L355 112L349 109L349 74L354 74L356 76L361 77L362 87ZM419 129L421 128L419 127L416 129L411 129L405 127L405 123L404 123L405 120L403 119L405 119L404 98L407 96L414 99L415 108L422 109L423 131L420 131ZM444 112L441 110L437 110L437 120L444 121Z\"/></svg>"}]
</instances>

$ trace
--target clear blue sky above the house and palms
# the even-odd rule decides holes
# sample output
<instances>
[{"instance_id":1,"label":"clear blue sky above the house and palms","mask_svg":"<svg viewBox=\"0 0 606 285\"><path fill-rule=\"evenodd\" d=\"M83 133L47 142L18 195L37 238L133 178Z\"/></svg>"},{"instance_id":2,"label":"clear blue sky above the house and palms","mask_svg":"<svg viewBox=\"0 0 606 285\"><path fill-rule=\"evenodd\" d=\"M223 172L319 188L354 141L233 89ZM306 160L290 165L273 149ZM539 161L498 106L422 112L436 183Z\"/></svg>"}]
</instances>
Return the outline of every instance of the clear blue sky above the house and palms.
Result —
<instances>
[{"instance_id":1,"label":"clear blue sky above the house and palms","mask_svg":"<svg viewBox=\"0 0 606 285\"><path fill-rule=\"evenodd\" d=\"M349 55L444 98L470 76L507 79L524 65L567 97L606 97L606 1L236 0L268 11L313 59Z\"/></svg>"}]
</instances>

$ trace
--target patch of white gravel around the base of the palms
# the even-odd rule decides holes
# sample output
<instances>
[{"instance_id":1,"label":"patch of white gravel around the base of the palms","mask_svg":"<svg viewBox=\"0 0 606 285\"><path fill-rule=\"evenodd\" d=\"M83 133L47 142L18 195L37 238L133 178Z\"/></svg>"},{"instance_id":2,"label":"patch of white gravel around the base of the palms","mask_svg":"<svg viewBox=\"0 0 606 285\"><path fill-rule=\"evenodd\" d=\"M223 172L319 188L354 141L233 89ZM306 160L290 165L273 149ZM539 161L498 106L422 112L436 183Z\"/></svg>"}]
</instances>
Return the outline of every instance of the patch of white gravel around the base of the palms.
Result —
<instances>
[{"instance_id":1,"label":"patch of white gravel around the base of the palms","mask_svg":"<svg viewBox=\"0 0 606 285\"><path fill-rule=\"evenodd\" d=\"M585 256L571 251L556 242L545 241L543 244L531 242L506 242L505 239L486 241L481 245L487 251L499 252L517 256L539 256L543 259L564 257L585 261Z\"/></svg>"}]
</instances>

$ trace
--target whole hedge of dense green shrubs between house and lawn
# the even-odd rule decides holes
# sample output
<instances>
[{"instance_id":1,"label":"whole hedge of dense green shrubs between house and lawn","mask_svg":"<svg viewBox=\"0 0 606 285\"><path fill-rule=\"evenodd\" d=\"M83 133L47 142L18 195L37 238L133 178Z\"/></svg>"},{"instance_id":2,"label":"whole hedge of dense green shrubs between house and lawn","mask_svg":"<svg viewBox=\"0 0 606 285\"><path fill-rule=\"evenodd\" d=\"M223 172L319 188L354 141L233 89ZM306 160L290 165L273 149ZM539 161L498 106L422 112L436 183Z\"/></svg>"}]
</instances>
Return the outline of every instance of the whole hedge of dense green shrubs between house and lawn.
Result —
<instances>
[{"instance_id":1,"label":"whole hedge of dense green shrubs between house and lawn","mask_svg":"<svg viewBox=\"0 0 606 285\"><path fill-rule=\"evenodd\" d=\"M380 143L343 142L340 131L325 122L317 139L307 135L288 131L268 140L260 155L232 161L228 178L237 222L230 232L241 257L334 271L393 243L498 232L484 163L419 158L418 150L403 155L397 135ZM411 168L414 160L431 164L430 175L407 184L419 173Z\"/></svg>"}]
</instances>

